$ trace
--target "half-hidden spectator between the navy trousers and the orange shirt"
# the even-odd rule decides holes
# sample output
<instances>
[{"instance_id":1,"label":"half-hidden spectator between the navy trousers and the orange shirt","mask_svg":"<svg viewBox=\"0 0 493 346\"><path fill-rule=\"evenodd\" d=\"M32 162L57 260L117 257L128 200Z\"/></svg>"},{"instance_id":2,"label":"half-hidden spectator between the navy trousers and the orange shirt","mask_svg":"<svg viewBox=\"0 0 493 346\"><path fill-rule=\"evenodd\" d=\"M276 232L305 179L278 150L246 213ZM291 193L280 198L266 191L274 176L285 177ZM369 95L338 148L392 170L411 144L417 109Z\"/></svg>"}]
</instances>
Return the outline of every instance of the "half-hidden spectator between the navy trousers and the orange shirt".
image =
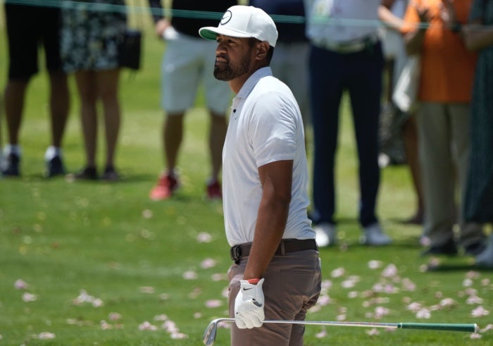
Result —
<instances>
[{"instance_id":1,"label":"half-hidden spectator between the navy trousers and the orange shirt","mask_svg":"<svg viewBox=\"0 0 493 346\"><path fill-rule=\"evenodd\" d=\"M408 0L384 0L379 9L380 20L385 24L382 35L382 48L387 61L386 69L388 80L386 103L380 113L380 123L389 124L385 134L386 140L380 138L380 167L388 163L408 164L411 173L413 189L416 194L416 211L406 220L406 223L421 225L424 220L423 188L421 183L419 158L418 158L418 130L414 111L399 109L392 101L392 95L397 81L404 69L407 60L406 44L401 33L404 25L404 14L408 6ZM385 75L385 72L384 72ZM383 127L385 128L385 127ZM380 133L382 136L382 133ZM404 155L403 155L404 154ZM387 164L382 164L382 156L387 156ZM404 161L401 161L404 160Z\"/></svg>"}]
</instances>

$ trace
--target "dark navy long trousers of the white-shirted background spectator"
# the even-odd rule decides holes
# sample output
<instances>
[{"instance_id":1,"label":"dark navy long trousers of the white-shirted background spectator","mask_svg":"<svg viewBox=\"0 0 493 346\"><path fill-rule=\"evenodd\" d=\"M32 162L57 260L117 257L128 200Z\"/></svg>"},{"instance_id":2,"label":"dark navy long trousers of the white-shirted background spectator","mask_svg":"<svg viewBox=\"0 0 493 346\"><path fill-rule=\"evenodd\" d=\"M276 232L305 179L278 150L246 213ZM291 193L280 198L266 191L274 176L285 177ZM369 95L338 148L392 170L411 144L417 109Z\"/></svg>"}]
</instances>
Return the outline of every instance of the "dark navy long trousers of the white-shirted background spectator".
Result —
<instances>
[{"instance_id":1,"label":"dark navy long trousers of the white-shirted background spectator","mask_svg":"<svg viewBox=\"0 0 493 346\"><path fill-rule=\"evenodd\" d=\"M339 105L347 90L351 99L359 160L359 222L377 222L375 204L380 185L378 123L383 58L380 43L363 51L339 54L311 47L310 87L314 136L313 218L335 223L335 152Z\"/></svg>"}]
</instances>

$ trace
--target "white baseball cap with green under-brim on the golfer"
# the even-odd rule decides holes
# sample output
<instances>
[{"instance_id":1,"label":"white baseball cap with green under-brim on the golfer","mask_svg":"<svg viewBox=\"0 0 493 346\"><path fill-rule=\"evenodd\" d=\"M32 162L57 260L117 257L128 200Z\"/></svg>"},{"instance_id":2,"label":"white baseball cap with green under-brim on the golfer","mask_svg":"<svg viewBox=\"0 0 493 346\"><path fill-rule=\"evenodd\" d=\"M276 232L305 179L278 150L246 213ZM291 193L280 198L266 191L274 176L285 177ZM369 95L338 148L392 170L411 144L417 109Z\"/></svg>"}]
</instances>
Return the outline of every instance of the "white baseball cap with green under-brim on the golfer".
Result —
<instances>
[{"instance_id":1,"label":"white baseball cap with green under-brim on the golfer","mask_svg":"<svg viewBox=\"0 0 493 346\"><path fill-rule=\"evenodd\" d=\"M275 47L277 29L274 20L261 8L231 6L224 13L218 27L201 27L199 35L204 39L216 39L216 35L230 37L255 37Z\"/></svg>"}]
</instances>

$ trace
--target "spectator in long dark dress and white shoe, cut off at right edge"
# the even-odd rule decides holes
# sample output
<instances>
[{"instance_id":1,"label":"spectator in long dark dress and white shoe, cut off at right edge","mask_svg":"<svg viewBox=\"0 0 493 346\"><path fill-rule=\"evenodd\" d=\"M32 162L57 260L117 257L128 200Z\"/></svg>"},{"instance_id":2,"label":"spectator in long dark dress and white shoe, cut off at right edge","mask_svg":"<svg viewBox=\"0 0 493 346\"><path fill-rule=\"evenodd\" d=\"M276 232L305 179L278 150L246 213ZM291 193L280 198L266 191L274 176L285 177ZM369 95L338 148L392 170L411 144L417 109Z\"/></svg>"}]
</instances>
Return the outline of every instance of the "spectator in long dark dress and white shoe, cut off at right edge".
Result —
<instances>
[{"instance_id":1,"label":"spectator in long dark dress and white shoe, cut off at right edge","mask_svg":"<svg viewBox=\"0 0 493 346\"><path fill-rule=\"evenodd\" d=\"M468 183L464 214L467 221L493 222L493 1L474 0L470 25L463 27L467 47L478 51L473 99ZM493 268L493 235L485 251L476 257L478 266Z\"/></svg>"}]
</instances>

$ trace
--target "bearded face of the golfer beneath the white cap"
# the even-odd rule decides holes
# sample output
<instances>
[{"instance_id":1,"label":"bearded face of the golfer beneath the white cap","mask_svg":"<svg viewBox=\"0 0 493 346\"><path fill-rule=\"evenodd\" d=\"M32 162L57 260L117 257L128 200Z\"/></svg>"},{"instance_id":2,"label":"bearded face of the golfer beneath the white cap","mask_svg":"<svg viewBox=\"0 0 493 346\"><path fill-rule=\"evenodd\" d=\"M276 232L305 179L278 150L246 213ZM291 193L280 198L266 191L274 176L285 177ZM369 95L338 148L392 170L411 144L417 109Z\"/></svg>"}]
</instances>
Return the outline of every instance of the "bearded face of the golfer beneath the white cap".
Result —
<instances>
[{"instance_id":1,"label":"bearded face of the golfer beneath the white cap","mask_svg":"<svg viewBox=\"0 0 493 346\"><path fill-rule=\"evenodd\" d=\"M253 46L249 39L218 35L214 77L218 80L234 80L249 72Z\"/></svg>"}]
</instances>

